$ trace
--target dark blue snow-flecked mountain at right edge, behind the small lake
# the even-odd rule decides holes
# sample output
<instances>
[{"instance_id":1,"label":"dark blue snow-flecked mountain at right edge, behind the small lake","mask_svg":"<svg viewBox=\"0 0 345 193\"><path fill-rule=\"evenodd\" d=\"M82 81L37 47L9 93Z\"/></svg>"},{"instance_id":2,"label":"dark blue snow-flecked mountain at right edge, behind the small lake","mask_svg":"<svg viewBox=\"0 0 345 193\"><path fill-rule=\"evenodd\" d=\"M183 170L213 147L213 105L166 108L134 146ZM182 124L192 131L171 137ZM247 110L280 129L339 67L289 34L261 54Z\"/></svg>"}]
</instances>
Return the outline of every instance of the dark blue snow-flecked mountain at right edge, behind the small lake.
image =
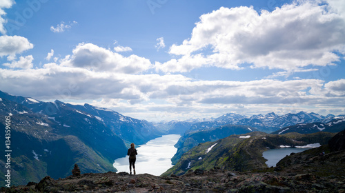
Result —
<instances>
[{"instance_id":1,"label":"dark blue snow-flecked mountain at right edge, behind the small lake","mask_svg":"<svg viewBox=\"0 0 345 193\"><path fill-rule=\"evenodd\" d=\"M334 116L331 120L324 119L323 122L300 123L288 126L273 132L273 134L286 134L288 132L315 133L315 132L340 132L345 128L345 116Z\"/></svg>"}]
</instances>

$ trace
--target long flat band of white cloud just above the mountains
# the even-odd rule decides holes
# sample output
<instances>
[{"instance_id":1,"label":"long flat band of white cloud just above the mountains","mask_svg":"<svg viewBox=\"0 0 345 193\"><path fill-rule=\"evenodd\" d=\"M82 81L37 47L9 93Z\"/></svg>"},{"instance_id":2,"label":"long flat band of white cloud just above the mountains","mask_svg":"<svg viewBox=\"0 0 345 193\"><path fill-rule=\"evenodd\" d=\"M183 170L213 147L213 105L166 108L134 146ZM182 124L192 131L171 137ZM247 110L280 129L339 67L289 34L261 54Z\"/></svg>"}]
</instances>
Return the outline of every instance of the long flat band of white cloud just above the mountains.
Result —
<instances>
[{"instance_id":1,"label":"long flat band of white cloud just above the mountains","mask_svg":"<svg viewBox=\"0 0 345 193\"><path fill-rule=\"evenodd\" d=\"M12 61L13 68L28 68L0 69L1 90L40 100L95 100L94 105L150 120L220 116L230 111L287 113L308 108L314 111L315 107L333 113L344 110L344 79L241 82L197 81L179 74L124 74L121 70L101 70L97 65L98 70L76 66L81 61L75 60L86 50L110 58L117 54L97 45L85 45L78 45L61 64L46 63L43 68L24 65L25 61L31 63L30 56ZM17 90L19 85L21 89Z\"/></svg>"}]
</instances>

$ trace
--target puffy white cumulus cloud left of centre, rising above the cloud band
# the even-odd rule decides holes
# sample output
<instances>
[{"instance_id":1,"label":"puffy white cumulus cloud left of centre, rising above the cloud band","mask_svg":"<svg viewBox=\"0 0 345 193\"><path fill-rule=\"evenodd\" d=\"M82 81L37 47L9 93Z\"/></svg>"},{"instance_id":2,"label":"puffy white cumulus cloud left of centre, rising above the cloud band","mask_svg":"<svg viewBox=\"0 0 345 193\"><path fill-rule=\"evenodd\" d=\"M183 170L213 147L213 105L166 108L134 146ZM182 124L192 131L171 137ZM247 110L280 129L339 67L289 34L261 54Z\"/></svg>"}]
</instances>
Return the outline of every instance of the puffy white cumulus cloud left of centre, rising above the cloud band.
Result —
<instances>
[{"instance_id":1,"label":"puffy white cumulus cloud left of centre, rising above the cloud band","mask_svg":"<svg viewBox=\"0 0 345 193\"><path fill-rule=\"evenodd\" d=\"M151 68L152 64L144 57L130 55L124 57L92 43L80 43L72 51L72 59L66 63L74 67L86 68L98 72L139 73Z\"/></svg>"}]
</instances>

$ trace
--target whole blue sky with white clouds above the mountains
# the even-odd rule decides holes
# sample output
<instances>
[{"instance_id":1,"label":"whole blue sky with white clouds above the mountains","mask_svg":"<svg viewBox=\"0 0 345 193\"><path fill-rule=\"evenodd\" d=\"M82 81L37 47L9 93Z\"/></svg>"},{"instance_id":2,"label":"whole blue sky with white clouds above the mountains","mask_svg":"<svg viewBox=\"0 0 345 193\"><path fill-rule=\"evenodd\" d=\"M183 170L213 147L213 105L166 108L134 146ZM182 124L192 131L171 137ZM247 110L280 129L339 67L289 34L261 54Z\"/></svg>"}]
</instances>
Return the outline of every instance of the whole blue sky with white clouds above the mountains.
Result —
<instances>
[{"instance_id":1,"label":"whole blue sky with white clouds above the mountains","mask_svg":"<svg viewBox=\"0 0 345 193\"><path fill-rule=\"evenodd\" d=\"M345 1L0 0L0 90L148 121L345 114Z\"/></svg>"}]
</instances>

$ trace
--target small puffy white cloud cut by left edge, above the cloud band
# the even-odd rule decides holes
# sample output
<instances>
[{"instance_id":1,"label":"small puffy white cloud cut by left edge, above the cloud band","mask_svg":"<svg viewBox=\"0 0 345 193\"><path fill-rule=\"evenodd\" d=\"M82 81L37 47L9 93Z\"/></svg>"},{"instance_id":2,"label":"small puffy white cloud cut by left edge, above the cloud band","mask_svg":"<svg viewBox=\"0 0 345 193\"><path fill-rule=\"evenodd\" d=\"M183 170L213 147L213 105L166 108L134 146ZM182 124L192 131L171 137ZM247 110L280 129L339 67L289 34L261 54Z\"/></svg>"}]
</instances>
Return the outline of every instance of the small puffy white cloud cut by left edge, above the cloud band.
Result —
<instances>
[{"instance_id":1,"label":"small puffy white cloud cut by left edge, above the cloud band","mask_svg":"<svg viewBox=\"0 0 345 193\"><path fill-rule=\"evenodd\" d=\"M15 55L25 50L34 48L34 45L25 37L1 36L0 37L0 57Z\"/></svg>"}]
</instances>

